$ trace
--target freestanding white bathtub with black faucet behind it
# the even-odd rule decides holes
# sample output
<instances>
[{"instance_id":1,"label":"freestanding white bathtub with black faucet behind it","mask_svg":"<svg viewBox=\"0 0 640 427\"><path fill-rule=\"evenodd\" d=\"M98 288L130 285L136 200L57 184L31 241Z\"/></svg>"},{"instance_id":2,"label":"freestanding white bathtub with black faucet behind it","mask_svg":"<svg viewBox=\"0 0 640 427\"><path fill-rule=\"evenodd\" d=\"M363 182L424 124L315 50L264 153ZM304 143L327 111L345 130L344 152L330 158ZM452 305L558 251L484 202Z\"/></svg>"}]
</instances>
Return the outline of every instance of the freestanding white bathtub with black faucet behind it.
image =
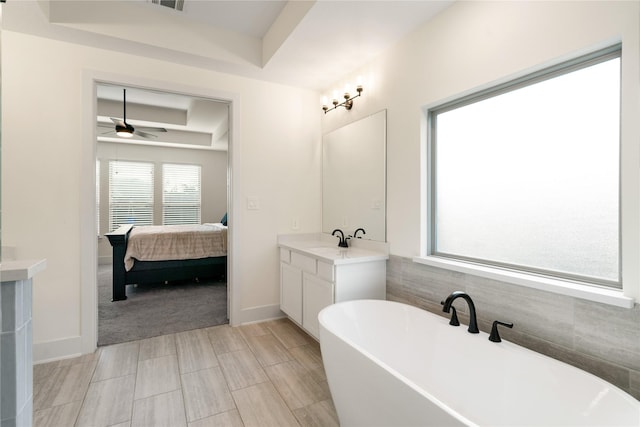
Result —
<instances>
[{"instance_id":1,"label":"freestanding white bathtub with black faucet behind it","mask_svg":"<svg viewBox=\"0 0 640 427\"><path fill-rule=\"evenodd\" d=\"M343 427L640 426L640 402L608 382L409 305L348 301L319 320Z\"/></svg>"}]
</instances>

